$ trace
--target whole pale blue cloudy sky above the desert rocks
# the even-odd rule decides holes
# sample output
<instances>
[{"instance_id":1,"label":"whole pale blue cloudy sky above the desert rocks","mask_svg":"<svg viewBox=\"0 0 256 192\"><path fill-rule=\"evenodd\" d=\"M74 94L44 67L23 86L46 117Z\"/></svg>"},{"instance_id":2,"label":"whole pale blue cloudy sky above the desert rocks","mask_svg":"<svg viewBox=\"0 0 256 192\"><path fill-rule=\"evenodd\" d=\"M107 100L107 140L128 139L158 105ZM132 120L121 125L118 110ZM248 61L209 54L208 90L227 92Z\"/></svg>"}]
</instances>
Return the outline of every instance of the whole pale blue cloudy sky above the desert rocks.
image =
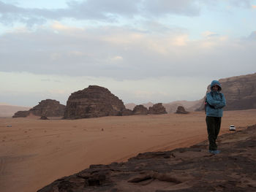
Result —
<instances>
[{"instance_id":1,"label":"whole pale blue cloudy sky above the desert rocks","mask_svg":"<svg viewBox=\"0 0 256 192\"><path fill-rule=\"evenodd\" d=\"M89 85L194 101L255 73L255 50L256 0L0 0L0 103L66 104Z\"/></svg>"}]
</instances>

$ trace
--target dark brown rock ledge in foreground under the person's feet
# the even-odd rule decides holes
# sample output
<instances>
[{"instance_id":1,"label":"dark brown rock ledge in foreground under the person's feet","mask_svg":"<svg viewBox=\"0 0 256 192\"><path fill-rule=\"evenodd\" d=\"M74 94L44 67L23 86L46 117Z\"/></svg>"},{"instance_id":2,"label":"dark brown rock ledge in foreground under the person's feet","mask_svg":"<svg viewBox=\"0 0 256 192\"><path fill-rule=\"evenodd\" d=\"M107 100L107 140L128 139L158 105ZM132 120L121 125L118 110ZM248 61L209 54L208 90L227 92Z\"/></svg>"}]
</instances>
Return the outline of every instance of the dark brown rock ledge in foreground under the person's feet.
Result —
<instances>
[{"instance_id":1,"label":"dark brown rock ledge in foreground under the person's feet","mask_svg":"<svg viewBox=\"0 0 256 192\"><path fill-rule=\"evenodd\" d=\"M238 128L239 129L239 128ZM140 153L125 163L91 165L38 192L83 191L256 191L256 125L208 142L165 152Z\"/></svg>"}]
</instances>

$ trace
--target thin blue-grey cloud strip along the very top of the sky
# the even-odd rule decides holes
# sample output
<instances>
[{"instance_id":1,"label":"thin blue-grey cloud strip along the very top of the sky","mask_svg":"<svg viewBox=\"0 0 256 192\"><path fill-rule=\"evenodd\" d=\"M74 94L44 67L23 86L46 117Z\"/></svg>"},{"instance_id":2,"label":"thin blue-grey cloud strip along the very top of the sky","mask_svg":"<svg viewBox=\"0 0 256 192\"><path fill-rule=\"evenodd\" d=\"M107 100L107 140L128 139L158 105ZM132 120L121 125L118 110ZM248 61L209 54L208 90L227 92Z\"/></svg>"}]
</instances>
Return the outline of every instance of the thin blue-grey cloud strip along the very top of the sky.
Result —
<instances>
[{"instance_id":1,"label":"thin blue-grey cloud strip along the very top of the sky","mask_svg":"<svg viewBox=\"0 0 256 192\"><path fill-rule=\"evenodd\" d=\"M0 23L11 25L15 22L26 23L27 26L41 25L48 20L97 20L107 23L118 23L120 18L145 19L165 17L166 15L200 15L205 6L216 7L219 1L210 0L87 0L67 1L67 8L39 9L24 8L0 1ZM230 6L251 8L250 0L230 0Z\"/></svg>"}]
</instances>

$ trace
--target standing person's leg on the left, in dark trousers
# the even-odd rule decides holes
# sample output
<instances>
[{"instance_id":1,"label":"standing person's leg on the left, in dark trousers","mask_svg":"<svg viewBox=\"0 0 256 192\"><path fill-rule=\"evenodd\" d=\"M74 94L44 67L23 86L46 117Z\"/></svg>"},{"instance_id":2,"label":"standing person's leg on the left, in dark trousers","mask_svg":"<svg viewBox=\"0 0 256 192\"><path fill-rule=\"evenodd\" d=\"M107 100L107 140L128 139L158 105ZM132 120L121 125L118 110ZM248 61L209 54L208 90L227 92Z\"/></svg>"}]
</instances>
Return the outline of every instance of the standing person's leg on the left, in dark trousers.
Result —
<instances>
[{"instance_id":1,"label":"standing person's leg on the left, in dark trousers","mask_svg":"<svg viewBox=\"0 0 256 192\"><path fill-rule=\"evenodd\" d=\"M208 140L209 140L209 150L217 150L216 139L215 139L215 119L214 117L206 116L206 126L208 132Z\"/></svg>"}]
</instances>

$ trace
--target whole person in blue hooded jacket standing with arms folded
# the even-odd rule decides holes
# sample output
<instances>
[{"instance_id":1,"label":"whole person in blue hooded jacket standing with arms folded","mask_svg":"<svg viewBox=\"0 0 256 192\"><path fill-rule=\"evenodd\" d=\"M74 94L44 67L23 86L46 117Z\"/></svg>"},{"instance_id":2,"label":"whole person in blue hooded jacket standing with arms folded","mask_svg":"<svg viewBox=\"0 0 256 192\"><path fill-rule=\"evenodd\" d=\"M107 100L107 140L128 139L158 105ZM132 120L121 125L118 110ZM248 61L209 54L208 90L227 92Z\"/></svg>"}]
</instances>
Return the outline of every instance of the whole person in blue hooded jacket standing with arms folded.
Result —
<instances>
[{"instance_id":1,"label":"whole person in blue hooded jacket standing with arms folded","mask_svg":"<svg viewBox=\"0 0 256 192\"><path fill-rule=\"evenodd\" d=\"M222 123L222 108L226 105L222 87L217 80L211 82L211 92L206 94L206 125L209 140L209 153L218 154L216 139Z\"/></svg>"}]
</instances>

